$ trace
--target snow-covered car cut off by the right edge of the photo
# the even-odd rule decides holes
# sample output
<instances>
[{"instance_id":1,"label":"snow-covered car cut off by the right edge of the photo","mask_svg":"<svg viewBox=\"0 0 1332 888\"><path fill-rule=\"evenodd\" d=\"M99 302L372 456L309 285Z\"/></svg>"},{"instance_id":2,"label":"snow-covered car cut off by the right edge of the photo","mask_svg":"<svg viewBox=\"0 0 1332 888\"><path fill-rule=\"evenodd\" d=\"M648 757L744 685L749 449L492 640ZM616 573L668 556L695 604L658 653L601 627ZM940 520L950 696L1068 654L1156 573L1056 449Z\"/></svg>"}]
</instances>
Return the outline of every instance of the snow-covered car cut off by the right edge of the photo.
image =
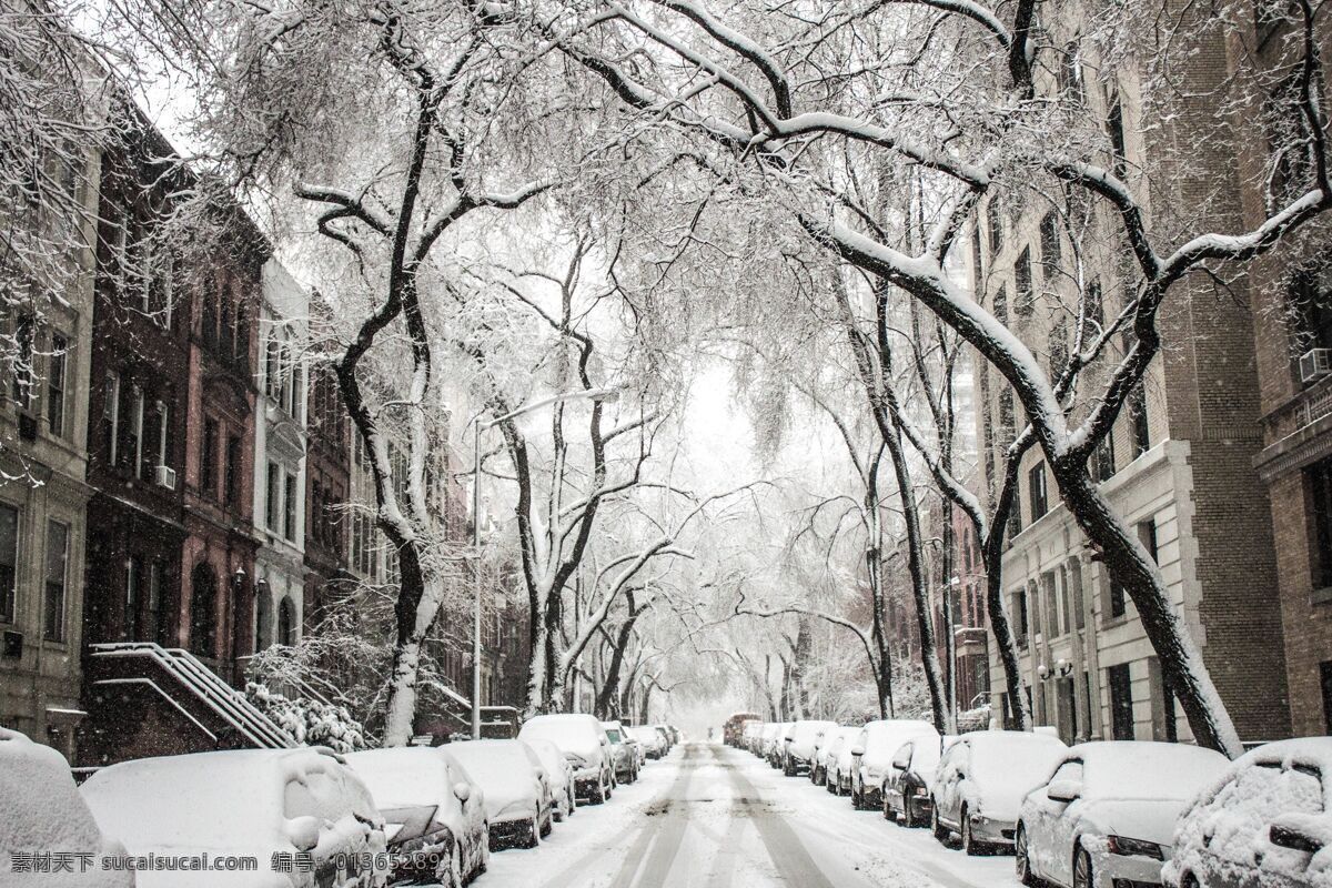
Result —
<instances>
[{"instance_id":1,"label":"snow-covered car cut off by the right edge of the photo","mask_svg":"<svg viewBox=\"0 0 1332 888\"><path fill-rule=\"evenodd\" d=\"M1332 738L1251 750L1204 788L1175 828L1173 888L1332 885Z\"/></svg>"}]
</instances>

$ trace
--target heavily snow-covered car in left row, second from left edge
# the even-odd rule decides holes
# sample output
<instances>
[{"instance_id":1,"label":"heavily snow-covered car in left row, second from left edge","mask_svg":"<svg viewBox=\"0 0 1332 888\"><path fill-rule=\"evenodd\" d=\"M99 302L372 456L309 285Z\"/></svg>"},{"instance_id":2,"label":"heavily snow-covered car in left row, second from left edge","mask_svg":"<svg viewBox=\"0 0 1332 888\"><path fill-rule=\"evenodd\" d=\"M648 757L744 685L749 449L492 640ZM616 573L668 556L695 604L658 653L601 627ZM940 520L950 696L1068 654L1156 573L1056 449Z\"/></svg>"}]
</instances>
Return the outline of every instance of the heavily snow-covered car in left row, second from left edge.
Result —
<instances>
[{"instance_id":1,"label":"heavily snow-covered car in left row, second from left edge","mask_svg":"<svg viewBox=\"0 0 1332 888\"><path fill-rule=\"evenodd\" d=\"M80 787L133 856L257 859L256 869L143 869L145 888L369 888L388 884L384 817L322 750L233 750L121 762ZM308 855L308 857L305 856ZM306 861L290 872L274 860Z\"/></svg>"}]
</instances>

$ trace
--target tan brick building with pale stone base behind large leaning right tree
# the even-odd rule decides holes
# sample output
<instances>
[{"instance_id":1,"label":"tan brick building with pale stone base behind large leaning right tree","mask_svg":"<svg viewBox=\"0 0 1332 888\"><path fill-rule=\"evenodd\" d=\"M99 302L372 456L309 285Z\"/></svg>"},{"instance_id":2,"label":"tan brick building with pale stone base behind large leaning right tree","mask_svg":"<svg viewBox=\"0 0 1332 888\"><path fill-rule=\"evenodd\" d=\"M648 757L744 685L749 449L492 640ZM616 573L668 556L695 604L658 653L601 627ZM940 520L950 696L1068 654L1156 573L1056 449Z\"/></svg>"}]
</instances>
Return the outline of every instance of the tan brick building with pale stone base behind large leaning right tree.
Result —
<instances>
[{"instance_id":1,"label":"tan brick building with pale stone base behind large leaning right tree","mask_svg":"<svg viewBox=\"0 0 1332 888\"><path fill-rule=\"evenodd\" d=\"M1043 87L1078 91L1104 121L1112 152L1102 160L1150 194L1154 206L1205 208L1195 222L1236 230L1241 208L1232 142L1212 134L1188 164L1167 162L1180 140L1193 145L1187 134L1204 132L1211 120L1213 107L1203 95L1225 77L1225 43L1209 40L1181 63L1176 73L1197 88L1197 97L1185 100L1171 121L1143 118L1128 72L1096 81L1086 57L1070 57L1075 61L1058 83L1051 75ZM1138 172L1144 168L1156 170L1151 181ZM1056 366L1070 347L1068 306L1078 305L1062 209L1035 193L1022 201L991 198L978 213L971 248L978 298ZM1098 245L1118 242L1116 221L1103 206L1086 212L1091 234L1079 244L1084 293L1094 312L1111 318L1124 304L1126 282L1112 249ZM1092 469L1103 494L1156 558L1240 735L1265 740L1289 732L1289 710L1284 675L1273 668L1281 652L1277 570L1267 491L1253 470L1261 447L1259 381L1252 317L1241 302L1219 297L1201 280L1171 290L1160 314L1167 349L1094 455ZM1084 377L1084 390L1095 390L1098 371ZM1020 418L1003 378L980 365L976 381L982 486L988 493ZM1187 739L1187 722L1163 686L1132 602L1058 502L1039 450L1026 455L1019 478L1003 571L1036 723L1056 726L1066 740ZM1007 716L994 652L991 686L996 711Z\"/></svg>"}]
</instances>

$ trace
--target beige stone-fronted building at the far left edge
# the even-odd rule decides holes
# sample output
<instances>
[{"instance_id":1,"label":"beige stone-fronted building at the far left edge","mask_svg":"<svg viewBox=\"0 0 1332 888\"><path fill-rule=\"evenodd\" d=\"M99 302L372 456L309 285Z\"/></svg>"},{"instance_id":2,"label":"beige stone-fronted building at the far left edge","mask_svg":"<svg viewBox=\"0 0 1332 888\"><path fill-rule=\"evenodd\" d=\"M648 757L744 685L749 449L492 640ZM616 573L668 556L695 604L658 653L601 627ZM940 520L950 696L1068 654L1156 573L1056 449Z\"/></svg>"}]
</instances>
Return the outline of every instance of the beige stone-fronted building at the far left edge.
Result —
<instances>
[{"instance_id":1,"label":"beige stone-fronted building at the far left edge","mask_svg":"<svg viewBox=\"0 0 1332 888\"><path fill-rule=\"evenodd\" d=\"M85 393L100 164L87 145L51 157L43 172L65 189L67 209L17 189L0 193L9 248L31 236L59 249L43 269L49 280L0 281L0 334L15 346L0 370L0 724L71 758L84 715Z\"/></svg>"}]
</instances>

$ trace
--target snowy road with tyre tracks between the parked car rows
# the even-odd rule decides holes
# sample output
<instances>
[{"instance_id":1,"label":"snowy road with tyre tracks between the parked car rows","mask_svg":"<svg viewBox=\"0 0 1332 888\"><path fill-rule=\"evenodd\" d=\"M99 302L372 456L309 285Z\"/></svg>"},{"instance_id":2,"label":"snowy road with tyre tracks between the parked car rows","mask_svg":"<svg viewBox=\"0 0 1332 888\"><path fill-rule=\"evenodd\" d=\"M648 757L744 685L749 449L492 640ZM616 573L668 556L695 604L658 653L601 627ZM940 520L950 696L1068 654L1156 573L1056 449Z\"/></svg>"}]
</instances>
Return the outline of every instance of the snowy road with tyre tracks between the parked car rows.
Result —
<instances>
[{"instance_id":1,"label":"snowy road with tyre tracks between the parked car rows","mask_svg":"<svg viewBox=\"0 0 1332 888\"><path fill-rule=\"evenodd\" d=\"M1012 857L854 811L747 752L682 744L539 848L492 855L477 888L1016 888Z\"/></svg>"}]
</instances>

